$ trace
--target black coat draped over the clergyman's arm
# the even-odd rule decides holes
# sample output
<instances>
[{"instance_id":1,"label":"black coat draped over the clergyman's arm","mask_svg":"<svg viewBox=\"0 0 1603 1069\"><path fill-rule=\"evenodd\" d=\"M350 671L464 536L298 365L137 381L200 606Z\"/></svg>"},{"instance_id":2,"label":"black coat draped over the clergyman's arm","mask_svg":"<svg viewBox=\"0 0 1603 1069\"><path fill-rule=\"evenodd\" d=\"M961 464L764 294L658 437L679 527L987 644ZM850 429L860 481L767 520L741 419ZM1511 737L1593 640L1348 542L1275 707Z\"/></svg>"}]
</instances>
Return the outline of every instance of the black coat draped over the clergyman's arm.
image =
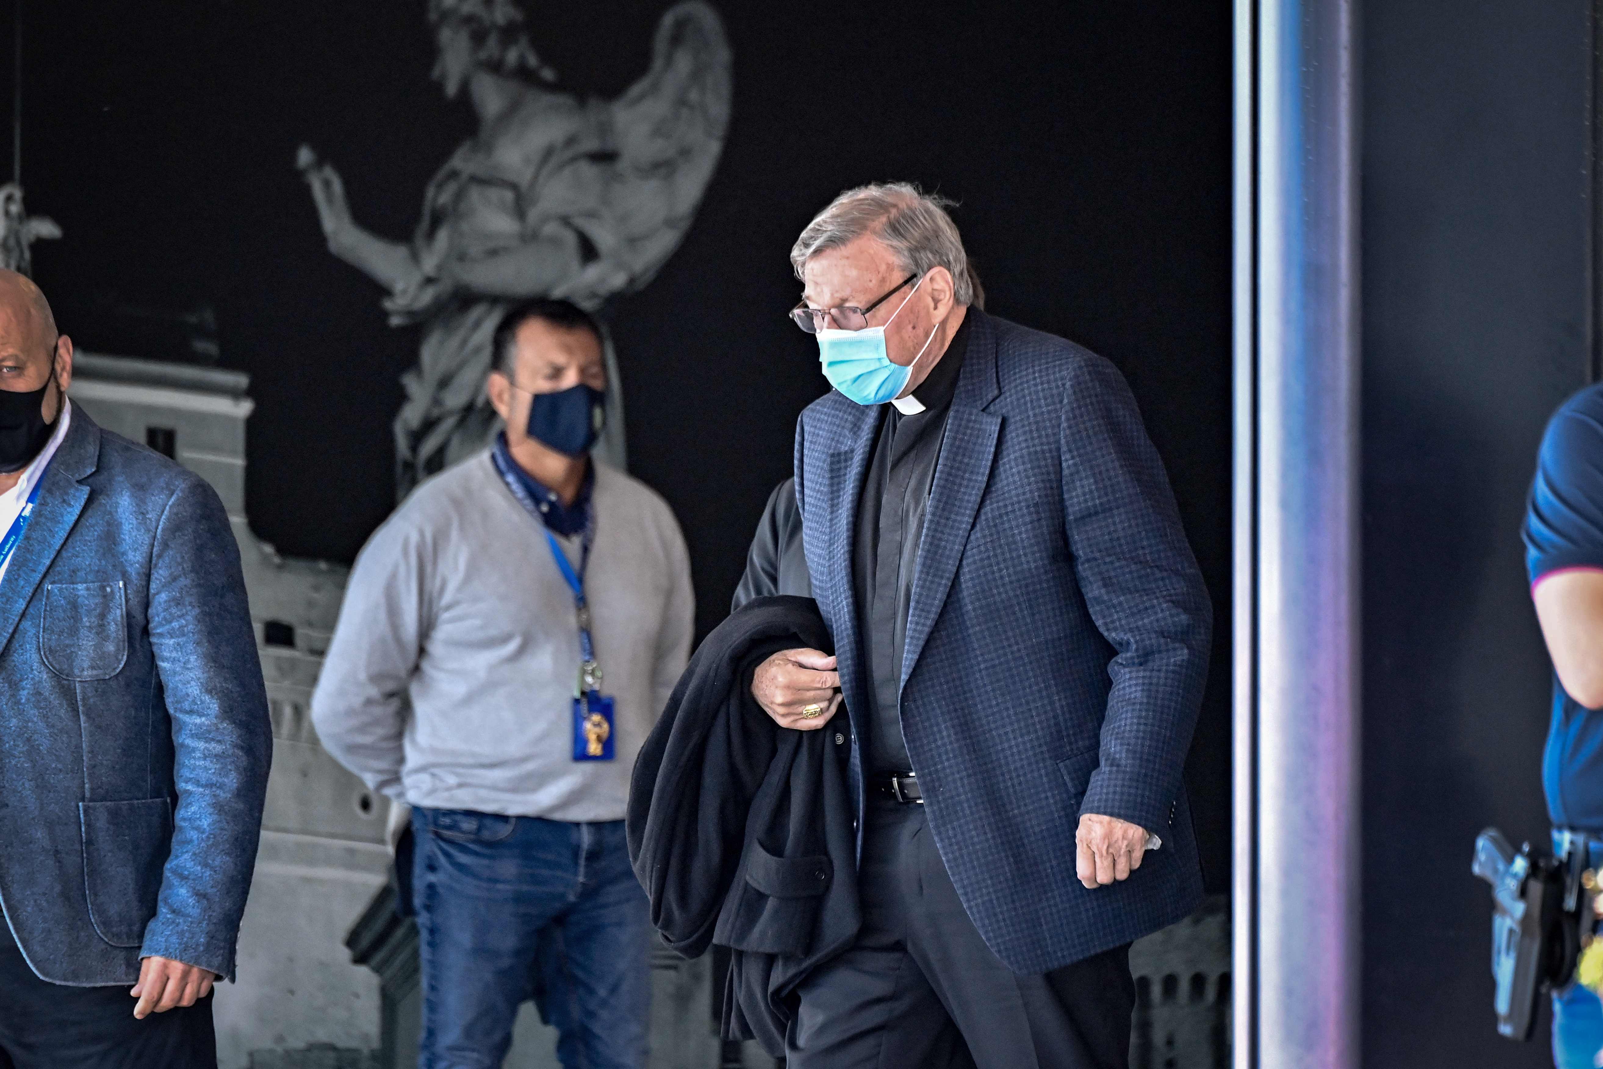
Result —
<instances>
[{"instance_id":1,"label":"black coat draped over the clergyman's arm","mask_svg":"<svg viewBox=\"0 0 1603 1069\"><path fill-rule=\"evenodd\" d=\"M731 949L725 1032L782 1051L795 984L858 931L843 737L776 724L752 676L830 649L810 598L758 598L702 643L635 763L628 851L670 947Z\"/></svg>"}]
</instances>

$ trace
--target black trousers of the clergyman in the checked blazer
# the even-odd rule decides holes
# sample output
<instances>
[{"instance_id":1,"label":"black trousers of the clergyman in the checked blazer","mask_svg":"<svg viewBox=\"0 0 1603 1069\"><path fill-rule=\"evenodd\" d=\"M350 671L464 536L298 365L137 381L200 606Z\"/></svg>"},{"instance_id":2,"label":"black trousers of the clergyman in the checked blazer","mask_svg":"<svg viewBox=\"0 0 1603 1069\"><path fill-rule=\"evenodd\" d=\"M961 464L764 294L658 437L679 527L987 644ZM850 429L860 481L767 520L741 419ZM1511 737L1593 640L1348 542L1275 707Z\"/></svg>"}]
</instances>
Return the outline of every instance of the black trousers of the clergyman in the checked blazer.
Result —
<instances>
[{"instance_id":1,"label":"black trousers of the clergyman in the checked blazer","mask_svg":"<svg viewBox=\"0 0 1603 1069\"><path fill-rule=\"evenodd\" d=\"M920 805L870 801L862 931L802 986L787 1069L1127 1069L1122 946L1018 976L975 930Z\"/></svg>"}]
</instances>

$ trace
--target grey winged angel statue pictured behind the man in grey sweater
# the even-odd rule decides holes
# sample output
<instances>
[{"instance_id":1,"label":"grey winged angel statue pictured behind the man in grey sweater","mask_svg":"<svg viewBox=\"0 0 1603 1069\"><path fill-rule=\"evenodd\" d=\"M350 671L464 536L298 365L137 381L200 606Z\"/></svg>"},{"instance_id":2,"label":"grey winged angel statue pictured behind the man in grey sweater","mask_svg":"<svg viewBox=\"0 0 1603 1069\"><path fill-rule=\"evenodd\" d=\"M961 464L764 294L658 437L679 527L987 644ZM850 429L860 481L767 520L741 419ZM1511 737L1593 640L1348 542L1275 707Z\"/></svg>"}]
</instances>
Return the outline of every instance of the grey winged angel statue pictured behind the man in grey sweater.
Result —
<instances>
[{"instance_id":1,"label":"grey winged angel statue pictured behind the man in grey sweater","mask_svg":"<svg viewBox=\"0 0 1603 1069\"><path fill-rule=\"evenodd\" d=\"M651 69L614 101L551 87L515 0L430 0L449 99L468 95L479 131L423 196L407 244L351 216L340 173L301 146L329 250L390 290L394 325L422 324L417 367L394 423L398 495L481 449L495 431L484 397L491 335L527 296L595 309L641 288L678 248L718 163L729 123L729 43L691 0L657 24ZM624 463L617 359L598 454Z\"/></svg>"}]
</instances>

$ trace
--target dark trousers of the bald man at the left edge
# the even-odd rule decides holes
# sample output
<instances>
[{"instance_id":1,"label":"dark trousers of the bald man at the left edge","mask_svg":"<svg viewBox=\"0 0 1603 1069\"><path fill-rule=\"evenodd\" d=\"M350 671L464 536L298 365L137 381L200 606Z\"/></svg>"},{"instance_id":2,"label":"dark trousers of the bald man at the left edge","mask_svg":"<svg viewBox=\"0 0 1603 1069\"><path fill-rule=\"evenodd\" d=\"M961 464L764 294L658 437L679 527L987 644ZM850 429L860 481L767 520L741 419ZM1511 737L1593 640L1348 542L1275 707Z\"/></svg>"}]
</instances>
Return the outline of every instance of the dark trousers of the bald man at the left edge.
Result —
<instances>
[{"instance_id":1,"label":"dark trousers of the bald man at the left edge","mask_svg":"<svg viewBox=\"0 0 1603 1069\"><path fill-rule=\"evenodd\" d=\"M0 918L0 1069L216 1069L212 995L135 1021L130 987L40 979Z\"/></svg>"}]
</instances>

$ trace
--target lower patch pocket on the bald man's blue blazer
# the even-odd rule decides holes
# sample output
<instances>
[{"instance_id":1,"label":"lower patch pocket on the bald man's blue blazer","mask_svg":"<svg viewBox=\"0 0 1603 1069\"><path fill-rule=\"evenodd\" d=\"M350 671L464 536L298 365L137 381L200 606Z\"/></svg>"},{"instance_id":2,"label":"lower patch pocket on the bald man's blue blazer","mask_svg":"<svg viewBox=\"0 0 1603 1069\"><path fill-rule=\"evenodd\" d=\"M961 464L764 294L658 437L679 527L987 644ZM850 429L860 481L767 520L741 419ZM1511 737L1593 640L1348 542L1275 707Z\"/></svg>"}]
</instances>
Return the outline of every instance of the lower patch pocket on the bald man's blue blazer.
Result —
<instances>
[{"instance_id":1,"label":"lower patch pocket on the bald man's blue blazer","mask_svg":"<svg viewBox=\"0 0 1603 1069\"><path fill-rule=\"evenodd\" d=\"M173 843L173 803L80 801L83 889L90 922L114 947L144 942Z\"/></svg>"}]
</instances>

